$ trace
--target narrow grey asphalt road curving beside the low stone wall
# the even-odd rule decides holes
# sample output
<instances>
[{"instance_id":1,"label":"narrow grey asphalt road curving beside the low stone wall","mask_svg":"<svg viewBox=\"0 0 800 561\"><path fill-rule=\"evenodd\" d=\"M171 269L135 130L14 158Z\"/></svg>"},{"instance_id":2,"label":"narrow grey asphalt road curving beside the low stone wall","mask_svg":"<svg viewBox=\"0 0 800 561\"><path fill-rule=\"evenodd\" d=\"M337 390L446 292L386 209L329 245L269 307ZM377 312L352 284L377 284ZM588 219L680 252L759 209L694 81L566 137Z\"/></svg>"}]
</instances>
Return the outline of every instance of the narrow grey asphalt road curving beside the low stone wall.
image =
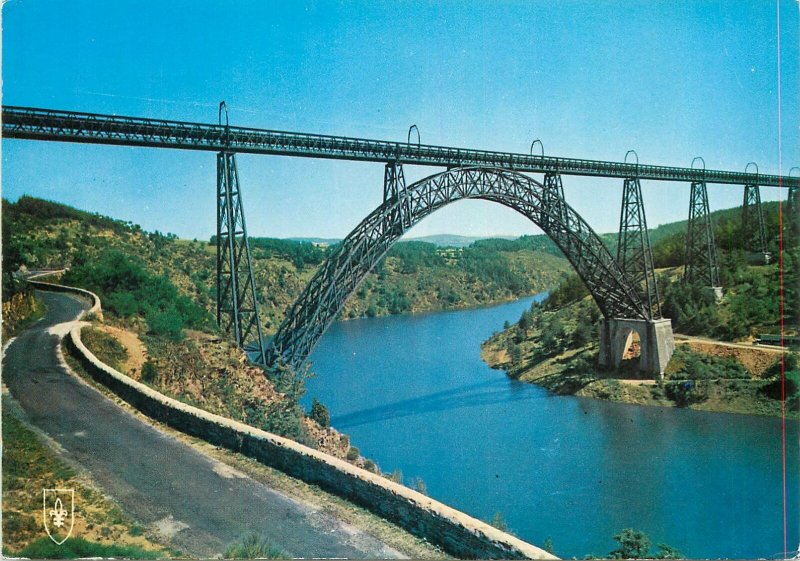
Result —
<instances>
[{"instance_id":1,"label":"narrow grey asphalt road curving beside the low stone wall","mask_svg":"<svg viewBox=\"0 0 800 561\"><path fill-rule=\"evenodd\" d=\"M292 557L402 556L208 458L76 379L59 364L54 334L59 329L51 328L73 321L87 305L66 294L38 296L47 314L9 345L3 382L28 420L139 522L160 528L176 548L202 557L221 554L249 533L266 537ZM80 515L80 497L76 503Z\"/></svg>"}]
</instances>

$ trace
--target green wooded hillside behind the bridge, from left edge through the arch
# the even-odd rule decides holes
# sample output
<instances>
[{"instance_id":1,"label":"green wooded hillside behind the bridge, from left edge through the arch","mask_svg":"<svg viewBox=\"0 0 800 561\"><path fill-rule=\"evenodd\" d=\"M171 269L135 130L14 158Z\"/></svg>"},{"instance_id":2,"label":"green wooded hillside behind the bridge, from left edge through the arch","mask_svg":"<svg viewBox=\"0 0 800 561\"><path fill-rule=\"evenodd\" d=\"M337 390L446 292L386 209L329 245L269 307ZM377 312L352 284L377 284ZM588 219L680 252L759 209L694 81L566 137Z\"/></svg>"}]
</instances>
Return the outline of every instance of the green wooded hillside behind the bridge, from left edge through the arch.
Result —
<instances>
[{"instance_id":1,"label":"green wooded hillside behind the bridge, from left edge through the arch","mask_svg":"<svg viewBox=\"0 0 800 561\"><path fill-rule=\"evenodd\" d=\"M216 247L210 241L146 232L130 222L27 196L16 203L3 200L2 222L4 299L13 290L10 273L19 267L66 266L73 269L73 280L106 297L112 313L124 316L136 307L135 298L123 293L144 297L158 290L168 296L170 286L200 309L214 310ZM250 243L262 320L270 333L336 245L269 238ZM569 269L544 236L480 240L465 248L401 243L367 277L343 316L491 304L547 290ZM129 280L115 270L125 270ZM181 306L188 323L203 323L196 311Z\"/></svg>"}]
</instances>

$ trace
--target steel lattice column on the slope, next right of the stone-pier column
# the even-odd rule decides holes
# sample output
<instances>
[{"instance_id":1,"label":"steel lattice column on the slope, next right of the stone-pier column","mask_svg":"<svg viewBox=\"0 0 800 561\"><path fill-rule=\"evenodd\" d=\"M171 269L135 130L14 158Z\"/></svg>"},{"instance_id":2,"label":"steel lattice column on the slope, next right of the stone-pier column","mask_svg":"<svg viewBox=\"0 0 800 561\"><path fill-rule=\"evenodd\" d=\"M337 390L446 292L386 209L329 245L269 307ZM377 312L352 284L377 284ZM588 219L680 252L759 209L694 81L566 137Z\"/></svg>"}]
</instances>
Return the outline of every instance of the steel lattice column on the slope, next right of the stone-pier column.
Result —
<instances>
[{"instance_id":1,"label":"steel lattice column on the slope, next right of the stone-pier column","mask_svg":"<svg viewBox=\"0 0 800 561\"><path fill-rule=\"evenodd\" d=\"M712 288L720 286L717 244L708 210L705 181L692 183L689 195L689 225L686 234L686 282L701 282Z\"/></svg>"}]
</instances>

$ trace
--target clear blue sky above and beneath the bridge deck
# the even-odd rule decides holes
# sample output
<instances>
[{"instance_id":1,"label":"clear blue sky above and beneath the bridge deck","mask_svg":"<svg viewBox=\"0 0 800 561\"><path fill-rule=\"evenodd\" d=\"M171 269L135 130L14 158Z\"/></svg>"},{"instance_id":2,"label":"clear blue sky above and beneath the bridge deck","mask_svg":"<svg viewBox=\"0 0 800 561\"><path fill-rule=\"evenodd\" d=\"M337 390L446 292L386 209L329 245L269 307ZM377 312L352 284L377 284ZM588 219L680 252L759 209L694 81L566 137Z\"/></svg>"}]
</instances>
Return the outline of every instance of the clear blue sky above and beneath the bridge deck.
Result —
<instances>
[{"instance_id":1,"label":"clear blue sky above and beneath the bridge deck","mask_svg":"<svg viewBox=\"0 0 800 561\"><path fill-rule=\"evenodd\" d=\"M779 7L778 7L779 6ZM781 22L782 158L777 15ZM798 3L9 0L3 103L762 172L800 165ZM3 196L31 194L207 239L211 153L3 140ZM239 156L251 235L342 237L380 203L383 168ZM435 170L408 166L409 181ZM565 177L567 200L614 231L622 181ZM688 186L643 182L651 226ZM714 186L713 208L742 189ZM764 189L762 197L778 197ZM538 229L462 202L410 236Z\"/></svg>"}]
</instances>

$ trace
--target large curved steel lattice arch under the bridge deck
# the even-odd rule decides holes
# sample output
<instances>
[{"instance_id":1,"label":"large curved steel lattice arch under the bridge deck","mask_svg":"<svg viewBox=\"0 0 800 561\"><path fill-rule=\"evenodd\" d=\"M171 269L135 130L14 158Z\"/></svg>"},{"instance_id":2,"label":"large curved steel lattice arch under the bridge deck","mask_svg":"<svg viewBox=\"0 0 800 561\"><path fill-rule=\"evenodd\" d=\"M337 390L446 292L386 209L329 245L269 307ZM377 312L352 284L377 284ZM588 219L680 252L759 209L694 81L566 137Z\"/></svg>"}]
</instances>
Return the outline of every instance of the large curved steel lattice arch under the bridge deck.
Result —
<instances>
[{"instance_id":1,"label":"large curved steel lattice arch under the bridge deck","mask_svg":"<svg viewBox=\"0 0 800 561\"><path fill-rule=\"evenodd\" d=\"M301 366L367 273L409 229L462 199L493 201L528 217L552 239L603 315L650 319L637 290L589 224L560 197L521 173L454 168L410 185L373 210L331 254L270 341L268 362Z\"/></svg>"}]
</instances>

